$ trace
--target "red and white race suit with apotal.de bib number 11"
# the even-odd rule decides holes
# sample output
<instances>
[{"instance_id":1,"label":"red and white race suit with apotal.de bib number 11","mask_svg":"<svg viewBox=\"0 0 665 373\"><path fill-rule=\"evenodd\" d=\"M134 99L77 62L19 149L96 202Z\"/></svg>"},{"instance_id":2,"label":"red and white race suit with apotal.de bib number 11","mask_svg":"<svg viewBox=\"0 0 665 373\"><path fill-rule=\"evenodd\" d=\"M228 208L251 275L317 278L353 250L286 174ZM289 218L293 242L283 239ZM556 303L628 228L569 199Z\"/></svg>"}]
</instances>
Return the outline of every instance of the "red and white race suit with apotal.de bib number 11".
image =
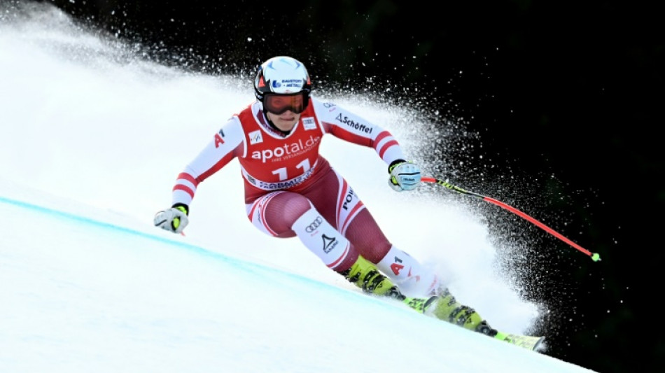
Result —
<instances>
[{"instance_id":1,"label":"red and white race suit with apotal.de bib number 11","mask_svg":"<svg viewBox=\"0 0 665 373\"><path fill-rule=\"evenodd\" d=\"M269 125L260 101L233 115L179 174L172 203L190 205L199 183L237 158L247 216L259 230L274 237L297 235L338 272L360 254L393 281L426 283L432 290L436 276L390 244L356 192L318 152L323 135L332 134L374 148L387 165L405 159L398 141L336 104L309 100L286 136Z\"/></svg>"}]
</instances>

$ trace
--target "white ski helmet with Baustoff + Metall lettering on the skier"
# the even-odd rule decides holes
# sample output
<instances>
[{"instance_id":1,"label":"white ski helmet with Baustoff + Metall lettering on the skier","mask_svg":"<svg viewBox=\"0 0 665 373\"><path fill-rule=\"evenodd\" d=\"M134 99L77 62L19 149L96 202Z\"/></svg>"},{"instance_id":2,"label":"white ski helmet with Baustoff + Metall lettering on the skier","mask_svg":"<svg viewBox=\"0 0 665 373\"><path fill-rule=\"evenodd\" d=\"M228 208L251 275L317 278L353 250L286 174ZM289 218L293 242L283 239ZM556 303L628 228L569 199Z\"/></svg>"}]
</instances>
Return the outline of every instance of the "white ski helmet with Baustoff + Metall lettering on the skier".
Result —
<instances>
[{"instance_id":1,"label":"white ski helmet with Baustoff + Metall lettering on the skier","mask_svg":"<svg viewBox=\"0 0 665 373\"><path fill-rule=\"evenodd\" d=\"M263 101L266 93L294 94L303 92L305 105L309 101L311 81L304 64L293 57L277 56L259 66L254 79L256 99Z\"/></svg>"}]
</instances>

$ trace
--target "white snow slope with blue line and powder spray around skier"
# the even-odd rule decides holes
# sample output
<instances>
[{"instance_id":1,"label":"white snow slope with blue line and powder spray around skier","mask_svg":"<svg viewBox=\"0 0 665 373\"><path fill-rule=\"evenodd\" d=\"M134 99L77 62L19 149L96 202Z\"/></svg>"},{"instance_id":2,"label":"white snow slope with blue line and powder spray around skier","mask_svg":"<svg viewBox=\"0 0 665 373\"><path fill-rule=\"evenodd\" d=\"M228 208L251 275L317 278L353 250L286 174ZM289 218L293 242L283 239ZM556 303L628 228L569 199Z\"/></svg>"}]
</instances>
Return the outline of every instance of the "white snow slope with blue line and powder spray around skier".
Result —
<instances>
[{"instance_id":1,"label":"white snow slope with blue line and powder spray around skier","mask_svg":"<svg viewBox=\"0 0 665 373\"><path fill-rule=\"evenodd\" d=\"M200 185L185 237L153 227L251 80L146 62L45 4L1 14L0 372L589 372L363 295L248 223L237 162ZM415 137L406 109L329 99ZM544 310L481 217L393 192L373 150L330 138L393 244L495 328L533 328Z\"/></svg>"}]
</instances>

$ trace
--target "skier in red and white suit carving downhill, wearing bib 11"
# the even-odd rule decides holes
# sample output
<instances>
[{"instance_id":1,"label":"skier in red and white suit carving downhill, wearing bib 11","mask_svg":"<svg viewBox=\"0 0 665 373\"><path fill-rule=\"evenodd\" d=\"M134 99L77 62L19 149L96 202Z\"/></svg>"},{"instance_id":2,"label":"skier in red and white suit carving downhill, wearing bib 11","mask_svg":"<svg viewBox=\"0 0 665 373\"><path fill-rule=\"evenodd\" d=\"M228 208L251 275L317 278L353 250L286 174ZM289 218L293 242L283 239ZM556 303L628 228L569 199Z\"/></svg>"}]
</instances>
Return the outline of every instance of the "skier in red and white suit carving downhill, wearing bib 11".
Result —
<instances>
[{"instance_id":1,"label":"skier in red and white suit carving downhill, wearing bib 11","mask_svg":"<svg viewBox=\"0 0 665 373\"><path fill-rule=\"evenodd\" d=\"M254 79L256 100L235 114L177 177L172 207L155 214L162 229L181 233L199 183L237 158L247 217L273 237L298 237L330 269L365 293L395 298L412 309L497 339L475 310L456 302L439 279L391 244L356 191L318 152L324 134L374 148L388 166L388 185L401 192L421 182L386 129L311 97L304 64L268 59ZM510 342L510 341L509 341Z\"/></svg>"}]
</instances>

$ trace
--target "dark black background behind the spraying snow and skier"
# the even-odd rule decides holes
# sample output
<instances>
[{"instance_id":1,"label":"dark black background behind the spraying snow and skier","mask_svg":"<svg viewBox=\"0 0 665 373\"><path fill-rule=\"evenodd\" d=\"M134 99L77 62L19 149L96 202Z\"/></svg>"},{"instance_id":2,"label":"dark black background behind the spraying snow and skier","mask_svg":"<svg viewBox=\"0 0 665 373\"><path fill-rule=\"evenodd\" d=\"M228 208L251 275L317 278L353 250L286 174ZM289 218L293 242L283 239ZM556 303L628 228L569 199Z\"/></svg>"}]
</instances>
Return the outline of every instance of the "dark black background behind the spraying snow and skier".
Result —
<instances>
[{"instance_id":1,"label":"dark black background behind the spraying snow and skier","mask_svg":"<svg viewBox=\"0 0 665 373\"><path fill-rule=\"evenodd\" d=\"M525 239L533 245L506 265L526 275L524 297L550 310L538 330L549 337L547 354L603 373L636 365L665 371L659 330L665 255L658 234L665 200L665 27L654 6L44 2L137 43L165 64L244 73L249 84L260 62L291 55L307 64L315 92L374 94L421 108L437 128L450 126L451 118L463 123L479 146L433 142L441 150L434 161L467 161L439 176L516 206L601 255L593 262L478 200L488 216L509 223L491 225L504 237L498 246L510 251Z\"/></svg>"}]
</instances>

